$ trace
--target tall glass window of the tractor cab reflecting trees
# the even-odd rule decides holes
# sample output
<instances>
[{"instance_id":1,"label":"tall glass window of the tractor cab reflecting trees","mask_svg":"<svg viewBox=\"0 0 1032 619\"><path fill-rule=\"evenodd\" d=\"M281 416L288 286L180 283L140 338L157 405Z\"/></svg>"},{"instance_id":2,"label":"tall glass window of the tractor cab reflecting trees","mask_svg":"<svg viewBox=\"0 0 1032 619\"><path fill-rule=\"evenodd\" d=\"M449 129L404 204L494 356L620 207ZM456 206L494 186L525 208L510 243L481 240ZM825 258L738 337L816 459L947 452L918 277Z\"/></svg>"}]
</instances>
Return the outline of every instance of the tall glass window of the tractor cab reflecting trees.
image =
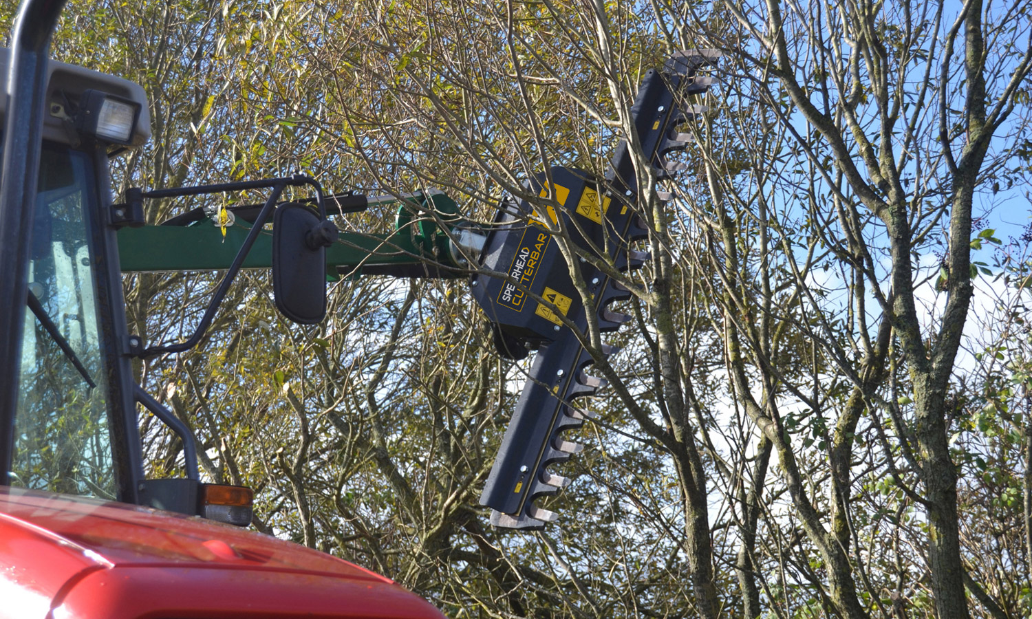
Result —
<instances>
[{"instance_id":1,"label":"tall glass window of the tractor cab reflecting trees","mask_svg":"<svg viewBox=\"0 0 1032 619\"><path fill-rule=\"evenodd\" d=\"M107 377L85 208L96 207L85 153L44 146L32 226L10 483L116 497Z\"/></svg>"}]
</instances>

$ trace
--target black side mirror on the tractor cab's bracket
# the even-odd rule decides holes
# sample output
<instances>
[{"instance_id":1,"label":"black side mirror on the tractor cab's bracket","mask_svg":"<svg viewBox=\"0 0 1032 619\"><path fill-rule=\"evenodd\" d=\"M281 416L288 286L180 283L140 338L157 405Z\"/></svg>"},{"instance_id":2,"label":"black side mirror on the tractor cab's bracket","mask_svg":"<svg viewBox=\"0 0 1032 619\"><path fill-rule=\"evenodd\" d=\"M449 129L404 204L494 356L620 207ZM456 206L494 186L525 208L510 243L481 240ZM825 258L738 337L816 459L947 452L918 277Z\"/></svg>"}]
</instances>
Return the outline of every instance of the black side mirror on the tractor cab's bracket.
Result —
<instances>
[{"instance_id":1,"label":"black side mirror on the tractor cab's bracket","mask_svg":"<svg viewBox=\"0 0 1032 619\"><path fill-rule=\"evenodd\" d=\"M303 204L281 204L272 218L272 296L281 314L313 325L326 317L326 248L330 222Z\"/></svg>"}]
</instances>

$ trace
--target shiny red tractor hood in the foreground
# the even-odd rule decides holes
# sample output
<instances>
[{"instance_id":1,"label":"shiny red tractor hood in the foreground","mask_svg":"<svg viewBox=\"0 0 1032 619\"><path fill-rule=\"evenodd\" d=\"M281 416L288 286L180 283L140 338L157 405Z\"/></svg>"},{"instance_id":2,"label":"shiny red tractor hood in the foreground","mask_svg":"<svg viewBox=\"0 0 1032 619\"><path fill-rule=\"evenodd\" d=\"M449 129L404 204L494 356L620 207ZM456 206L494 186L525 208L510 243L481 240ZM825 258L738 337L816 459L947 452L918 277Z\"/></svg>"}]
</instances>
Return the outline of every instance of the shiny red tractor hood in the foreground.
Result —
<instances>
[{"instance_id":1,"label":"shiny red tractor hood in the foreground","mask_svg":"<svg viewBox=\"0 0 1032 619\"><path fill-rule=\"evenodd\" d=\"M440 618L389 579L198 517L0 487L2 617Z\"/></svg>"}]
</instances>

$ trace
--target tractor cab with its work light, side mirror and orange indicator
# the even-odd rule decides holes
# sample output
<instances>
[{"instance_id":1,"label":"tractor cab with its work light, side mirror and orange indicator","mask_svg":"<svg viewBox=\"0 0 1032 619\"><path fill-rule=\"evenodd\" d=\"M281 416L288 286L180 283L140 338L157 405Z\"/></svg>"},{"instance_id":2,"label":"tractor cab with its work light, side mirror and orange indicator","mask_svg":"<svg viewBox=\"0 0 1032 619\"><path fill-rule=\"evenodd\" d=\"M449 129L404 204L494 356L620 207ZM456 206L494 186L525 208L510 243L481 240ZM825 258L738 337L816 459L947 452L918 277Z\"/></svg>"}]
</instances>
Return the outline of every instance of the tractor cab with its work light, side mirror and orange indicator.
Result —
<instances>
[{"instance_id":1,"label":"tractor cab with its work light, side mirror and orange indicator","mask_svg":"<svg viewBox=\"0 0 1032 619\"><path fill-rule=\"evenodd\" d=\"M0 50L0 66L9 53ZM271 235L277 304L296 322L318 322L325 313L326 239L335 228L305 206L278 205L287 186L318 184L305 177L165 190L200 195L267 188L271 196L236 252L219 292L188 343L146 348L128 332L122 297L117 232L144 225L144 193L114 203L108 163L150 135L148 102L136 84L69 64L47 63L42 145L36 191L28 214L28 264L18 398L10 431L6 478L13 487L93 496L199 515L246 526L250 489L200 482L189 428L135 384L131 359L191 348L211 322L233 276L276 213ZM0 107L0 113L6 109ZM157 192L155 192L157 193ZM308 239L315 237L315 242ZM5 239L6 240L6 239ZM266 239L267 240L267 239ZM284 270L290 276L279 276ZM21 296L20 294L18 296ZM13 300L11 301L13 302ZM143 479L136 420L141 404L184 445L185 479ZM4 449L0 445L0 453Z\"/></svg>"}]
</instances>

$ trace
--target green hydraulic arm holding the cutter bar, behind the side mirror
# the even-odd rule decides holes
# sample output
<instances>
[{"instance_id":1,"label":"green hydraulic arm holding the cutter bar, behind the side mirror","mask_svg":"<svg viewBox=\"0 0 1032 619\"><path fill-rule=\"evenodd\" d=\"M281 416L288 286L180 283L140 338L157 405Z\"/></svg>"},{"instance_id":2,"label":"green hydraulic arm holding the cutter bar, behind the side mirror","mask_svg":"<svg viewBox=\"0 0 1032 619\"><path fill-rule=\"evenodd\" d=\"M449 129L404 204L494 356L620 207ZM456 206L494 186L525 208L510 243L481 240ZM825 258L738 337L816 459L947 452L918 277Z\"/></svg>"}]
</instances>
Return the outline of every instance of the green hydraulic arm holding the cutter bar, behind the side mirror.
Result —
<instances>
[{"instance_id":1,"label":"green hydraulic arm holding the cutter bar, behind the side mirror","mask_svg":"<svg viewBox=\"0 0 1032 619\"><path fill-rule=\"evenodd\" d=\"M354 201L363 196L346 196ZM333 197L327 197L330 207ZM394 230L370 234L341 232L326 249L330 279L358 274L392 274L455 279L463 276L463 259L449 235L459 222L455 201L430 190L404 197L369 197L369 204L396 203ZM224 229L197 208L157 226L119 230L119 256L124 272L221 270L236 257L250 231L248 207L232 208L232 224ZM328 208L332 211L332 208ZM225 235L223 235L225 232ZM459 230L455 234L458 235ZM272 233L263 230L244 260L244 268L269 268Z\"/></svg>"}]
</instances>

